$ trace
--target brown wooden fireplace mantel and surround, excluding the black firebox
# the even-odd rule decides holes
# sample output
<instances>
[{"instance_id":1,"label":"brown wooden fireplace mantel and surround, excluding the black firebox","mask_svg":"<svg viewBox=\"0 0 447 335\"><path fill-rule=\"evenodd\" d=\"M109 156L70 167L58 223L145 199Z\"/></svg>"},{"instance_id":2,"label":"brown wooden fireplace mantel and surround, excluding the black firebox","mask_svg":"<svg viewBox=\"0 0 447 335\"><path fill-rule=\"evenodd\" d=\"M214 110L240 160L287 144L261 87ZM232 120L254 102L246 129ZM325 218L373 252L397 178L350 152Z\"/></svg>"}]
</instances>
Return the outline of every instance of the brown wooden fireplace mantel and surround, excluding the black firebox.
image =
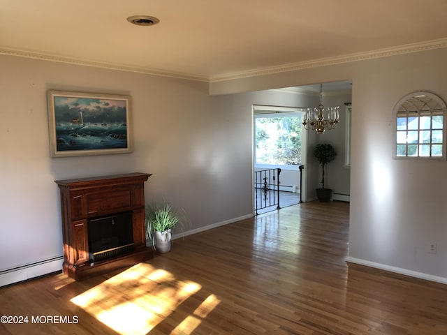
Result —
<instances>
[{"instance_id":1,"label":"brown wooden fireplace mantel and surround, excluding the black firebox","mask_svg":"<svg viewBox=\"0 0 447 335\"><path fill-rule=\"evenodd\" d=\"M144 192L144 183L151 175L135 172L54 181L61 194L64 274L81 280L152 258L152 248L146 247ZM124 211L132 212L135 251L90 263L89 219Z\"/></svg>"}]
</instances>

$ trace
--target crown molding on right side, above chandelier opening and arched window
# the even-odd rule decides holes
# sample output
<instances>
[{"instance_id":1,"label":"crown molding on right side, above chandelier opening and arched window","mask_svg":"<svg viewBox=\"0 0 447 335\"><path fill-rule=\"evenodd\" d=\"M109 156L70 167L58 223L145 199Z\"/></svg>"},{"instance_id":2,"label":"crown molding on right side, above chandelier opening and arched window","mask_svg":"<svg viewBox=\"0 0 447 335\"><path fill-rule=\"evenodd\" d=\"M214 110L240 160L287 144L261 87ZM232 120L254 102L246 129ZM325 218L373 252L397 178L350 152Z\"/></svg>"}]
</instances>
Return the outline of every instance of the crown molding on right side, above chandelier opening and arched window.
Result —
<instances>
[{"instance_id":1,"label":"crown molding on right side, above chandelier opening and arched window","mask_svg":"<svg viewBox=\"0 0 447 335\"><path fill-rule=\"evenodd\" d=\"M239 73L227 73L226 75L217 75L214 77L210 77L210 82L223 82L226 80L242 79L246 77L272 75L275 73L291 72L295 70L303 70L306 68L318 68L321 66L351 63L353 61L365 61L368 59L391 57L399 54L411 54L413 52L423 52L427 50L441 49L444 47L447 47L447 38L439 38L437 40L427 40L421 43L399 45L397 47L387 47L368 52L357 52L337 57L325 57L321 59L313 59L311 61L300 61L298 63L284 64L281 66L271 66L268 68L258 68L255 70L249 70Z\"/></svg>"}]
</instances>

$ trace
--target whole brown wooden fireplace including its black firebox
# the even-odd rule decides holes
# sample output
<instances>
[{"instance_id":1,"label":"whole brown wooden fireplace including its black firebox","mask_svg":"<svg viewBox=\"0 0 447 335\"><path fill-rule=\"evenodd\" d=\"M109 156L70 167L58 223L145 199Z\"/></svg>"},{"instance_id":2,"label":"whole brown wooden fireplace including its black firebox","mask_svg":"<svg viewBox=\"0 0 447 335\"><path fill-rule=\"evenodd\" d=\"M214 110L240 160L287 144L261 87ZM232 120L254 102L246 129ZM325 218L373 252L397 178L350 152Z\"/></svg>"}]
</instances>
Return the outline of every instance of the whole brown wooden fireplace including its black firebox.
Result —
<instances>
[{"instance_id":1,"label":"whole brown wooden fireplace including its black firebox","mask_svg":"<svg viewBox=\"0 0 447 335\"><path fill-rule=\"evenodd\" d=\"M146 247L145 173L56 180L64 264L75 280L152 258Z\"/></svg>"}]
</instances>

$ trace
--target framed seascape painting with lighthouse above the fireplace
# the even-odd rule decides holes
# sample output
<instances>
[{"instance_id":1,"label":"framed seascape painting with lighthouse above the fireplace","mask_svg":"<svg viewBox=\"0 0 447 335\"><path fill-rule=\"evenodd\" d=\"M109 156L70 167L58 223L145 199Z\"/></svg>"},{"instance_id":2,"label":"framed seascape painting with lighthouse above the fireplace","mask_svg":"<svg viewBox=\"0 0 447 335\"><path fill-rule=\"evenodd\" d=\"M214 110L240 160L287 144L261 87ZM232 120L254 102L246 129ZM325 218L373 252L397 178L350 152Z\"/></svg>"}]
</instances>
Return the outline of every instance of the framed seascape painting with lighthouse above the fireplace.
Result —
<instances>
[{"instance_id":1,"label":"framed seascape painting with lighthouse above the fireplace","mask_svg":"<svg viewBox=\"0 0 447 335\"><path fill-rule=\"evenodd\" d=\"M47 92L52 157L132 152L131 97Z\"/></svg>"}]
</instances>

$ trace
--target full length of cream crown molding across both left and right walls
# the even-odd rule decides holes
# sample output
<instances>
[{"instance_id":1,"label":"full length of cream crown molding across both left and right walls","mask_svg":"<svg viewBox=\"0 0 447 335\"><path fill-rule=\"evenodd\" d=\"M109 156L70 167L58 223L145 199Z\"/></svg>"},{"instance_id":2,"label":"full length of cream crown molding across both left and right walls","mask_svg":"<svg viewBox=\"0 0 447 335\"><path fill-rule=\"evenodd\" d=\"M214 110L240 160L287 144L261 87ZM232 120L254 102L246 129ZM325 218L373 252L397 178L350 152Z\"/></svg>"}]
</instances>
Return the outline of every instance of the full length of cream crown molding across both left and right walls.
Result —
<instances>
[{"instance_id":1,"label":"full length of cream crown molding across both left and right walls","mask_svg":"<svg viewBox=\"0 0 447 335\"><path fill-rule=\"evenodd\" d=\"M134 73L144 73L147 75L158 75L162 77L174 77L185 80L195 80L200 82L223 82L226 80L236 80L247 77L257 77L261 75L272 75L275 73L291 72L295 70L303 70L306 68L318 68L321 66L332 66L337 64L351 63L354 61L365 61L367 59L377 59L383 57L391 57L399 54L410 54L413 52L423 52L434 49L441 49L447 47L447 38L439 38L437 40L428 40L421 43L412 43L400 45L397 47L388 47L369 52L358 52L354 54L346 54L338 57L325 57L321 59L313 59L310 61L300 61L297 63L283 64L281 66L271 66L268 68L257 68L249 71L242 71L238 73L226 73L223 75L216 75L206 77L203 75L193 75L190 73L178 73L174 71L161 70L156 68L144 68L138 66L128 66L124 64L110 64L97 61L89 61L84 59L74 59L69 57L62 57L54 54L43 54L27 50L14 50L8 47L0 46L0 54L25 57L31 59L41 59L45 61L55 61L59 63L74 64L81 66L92 66L96 68L107 68L111 70L120 70Z\"/></svg>"}]
</instances>

